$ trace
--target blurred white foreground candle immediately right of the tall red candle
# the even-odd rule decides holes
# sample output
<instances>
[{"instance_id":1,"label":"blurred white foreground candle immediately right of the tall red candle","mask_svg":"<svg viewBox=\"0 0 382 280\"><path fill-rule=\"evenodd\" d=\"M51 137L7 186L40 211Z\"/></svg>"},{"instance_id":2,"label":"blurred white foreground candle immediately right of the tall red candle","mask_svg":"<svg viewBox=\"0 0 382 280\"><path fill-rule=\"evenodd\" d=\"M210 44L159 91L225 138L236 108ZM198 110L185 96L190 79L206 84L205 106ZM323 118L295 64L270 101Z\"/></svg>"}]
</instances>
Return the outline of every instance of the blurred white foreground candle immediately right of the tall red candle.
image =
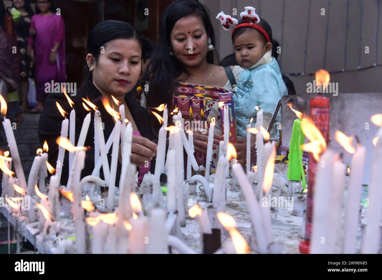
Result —
<instances>
[{"instance_id":1,"label":"blurred white foreground candle immediately right of the tall red candle","mask_svg":"<svg viewBox=\"0 0 382 280\"><path fill-rule=\"evenodd\" d=\"M313 226L310 240L311 254L324 254L323 239L328 235L329 200L332 186L333 152L326 150L317 162L317 173L314 183Z\"/></svg>"}]
</instances>

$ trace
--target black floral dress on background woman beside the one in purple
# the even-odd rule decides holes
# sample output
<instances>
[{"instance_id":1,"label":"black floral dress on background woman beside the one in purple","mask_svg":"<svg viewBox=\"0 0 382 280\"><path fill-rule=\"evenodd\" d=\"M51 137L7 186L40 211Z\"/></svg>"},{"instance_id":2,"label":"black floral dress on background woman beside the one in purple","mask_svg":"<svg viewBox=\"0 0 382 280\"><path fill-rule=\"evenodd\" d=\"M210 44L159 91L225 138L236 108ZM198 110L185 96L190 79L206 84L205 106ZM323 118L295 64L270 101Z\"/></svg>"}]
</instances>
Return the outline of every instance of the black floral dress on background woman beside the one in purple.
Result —
<instances>
[{"instance_id":1,"label":"black floral dress on background woman beside the one in purple","mask_svg":"<svg viewBox=\"0 0 382 280\"><path fill-rule=\"evenodd\" d=\"M21 67L20 77L29 78L32 76L32 64L27 54L29 26L31 25L31 16L28 14L23 16L19 21L15 22L18 53L20 54Z\"/></svg>"}]
</instances>

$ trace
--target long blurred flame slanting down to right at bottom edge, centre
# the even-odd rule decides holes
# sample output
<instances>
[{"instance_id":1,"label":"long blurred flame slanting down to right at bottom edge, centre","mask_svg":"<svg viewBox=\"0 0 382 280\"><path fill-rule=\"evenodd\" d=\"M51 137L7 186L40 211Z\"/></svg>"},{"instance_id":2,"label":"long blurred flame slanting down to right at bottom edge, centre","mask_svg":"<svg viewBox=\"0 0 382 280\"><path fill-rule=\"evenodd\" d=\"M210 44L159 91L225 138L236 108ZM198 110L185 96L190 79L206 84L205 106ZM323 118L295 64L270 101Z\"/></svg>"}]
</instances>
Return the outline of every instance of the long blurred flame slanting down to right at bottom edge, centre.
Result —
<instances>
[{"instance_id":1,"label":"long blurred flame slanting down to right at bottom edge, centre","mask_svg":"<svg viewBox=\"0 0 382 280\"><path fill-rule=\"evenodd\" d=\"M223 227L225 227L225 229L227 229L230 233L233 246L235 246L236 253L248 254L250 252L249 246L245 241L244 237L236 229L235 219L233 219L231 215L224 212L218 212L217 218L219 219Z\"/></svg>"}]
</instances>

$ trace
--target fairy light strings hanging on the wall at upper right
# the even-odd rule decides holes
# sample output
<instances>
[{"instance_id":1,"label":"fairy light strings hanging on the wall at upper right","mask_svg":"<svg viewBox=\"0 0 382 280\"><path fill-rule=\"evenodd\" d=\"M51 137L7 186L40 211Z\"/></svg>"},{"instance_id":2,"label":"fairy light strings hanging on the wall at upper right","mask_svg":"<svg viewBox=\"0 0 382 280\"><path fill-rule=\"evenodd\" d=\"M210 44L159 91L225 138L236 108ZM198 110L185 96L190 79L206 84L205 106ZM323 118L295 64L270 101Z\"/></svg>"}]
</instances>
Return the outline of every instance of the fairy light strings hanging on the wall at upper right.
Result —
<instances>
[{"instance_id":1,"label":"fairy light strings hanging on the wall at upper right","mask_svg":"<svg viewBox=\"0 0 382 280\"><path fill-rule=\"evenodd\" d=\"M236 2L236 1L235 1ZM283 0L282 3L282 18L281 18L281 42L280 46L283 46L284 43L284 23L285 23L285 2L286 0ZM361 67L361 52L363 51L362 47L362 24L363 24L363 0L360 1L359 4L359 10L360 10L360 22L359 22L359 51L358 51L358 67L357 69L346 69L346 62L347 62L347 46L348 46L348 31L349 31L349 6L350 6L350 0L348 0L346 5L346 33L345 33L345 51L344 51L344 62L343 62L343 68L341 70L335 70L335 71L329 71L330 74L336 74L336 73L343 73L343 72L356 72L360 70L366 70L377 66L382 66L382 64L378 64L378 36L379 36L379 17L380 17L380 0L376 0L377 4L377 28L376 28L376 36L374 39L376 40L376 60L375 63L371 66L365 66ZM259 6L260 6L261 0L259 0ZM283 72L284 75L289 76L312 76L315 75L315 73L306 73L306 61L307 61L307 53L308 53L308 39L309 39L309 18L311 14L311 3L312 0L309 0L308 2L308 11L307 11L307 25L306 25L306 34L305 34L305 48L304 48L304 66L302 72ZM325 28L325 47L324 47L324 57L323 57L323 69L326 67L326 58L327 58L327 45L328 45L328 35L329 35L329 12L330 12L330 4L332 3L331 0L328 0L327 3L327 10L326 10L326 28ZM368 2L370 3L370 2ZM282 64L282 58L283 56L280 55L280 67Z\"/></svg>"}]
</instances>

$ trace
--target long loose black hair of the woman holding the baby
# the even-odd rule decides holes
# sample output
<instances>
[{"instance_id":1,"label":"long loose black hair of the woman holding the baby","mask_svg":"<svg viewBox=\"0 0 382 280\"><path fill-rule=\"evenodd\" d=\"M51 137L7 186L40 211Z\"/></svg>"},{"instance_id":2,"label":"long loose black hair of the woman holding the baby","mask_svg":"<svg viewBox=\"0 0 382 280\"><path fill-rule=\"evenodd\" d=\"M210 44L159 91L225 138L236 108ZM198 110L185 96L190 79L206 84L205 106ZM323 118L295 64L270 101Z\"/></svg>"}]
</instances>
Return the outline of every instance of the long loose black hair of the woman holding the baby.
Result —
<instances>
[{"instance_id":1,"label":"long loose black hair of the woman holding the baby","mask_svg":"<svg viewBox=\"0 0 382 280\"><path fill-rule=\"evenodd\" d=\"M175 79L182 73L187 73L185 67L174 56L170 55L170 34L179 19L191 15L201 17L207 36L211 38L211 44L215 45L214 28L207 7L197 1L178 0L172 2L162 15L159 27L159 42L146 71L146 80L148 80L147 77L149 77L150 73L153 74L150 77L147 98L149 107L156 107L163 103L170 106ZM214 53L219 61L216 51L208 51L208 63L214 62Z\"/></svg>"}]
</instances>

